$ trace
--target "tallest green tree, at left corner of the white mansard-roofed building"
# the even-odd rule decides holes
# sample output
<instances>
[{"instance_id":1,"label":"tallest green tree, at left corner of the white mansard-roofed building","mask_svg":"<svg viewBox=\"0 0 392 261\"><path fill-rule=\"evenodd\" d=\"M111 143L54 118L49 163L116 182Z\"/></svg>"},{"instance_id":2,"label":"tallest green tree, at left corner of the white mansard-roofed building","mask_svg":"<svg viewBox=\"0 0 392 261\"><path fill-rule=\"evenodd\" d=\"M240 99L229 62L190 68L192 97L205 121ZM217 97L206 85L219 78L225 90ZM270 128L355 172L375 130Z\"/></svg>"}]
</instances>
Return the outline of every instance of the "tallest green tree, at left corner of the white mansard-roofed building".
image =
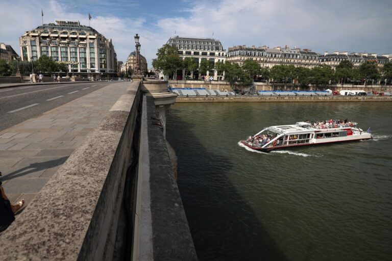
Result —
<instances>
[{"instance_id":1,"label":"tallest green tree, at left corner of the white mansard-roofed building","mask_svg":"<svg viewBox=\"0 0 392 261\"><path fill-rule=\"evenodd\" d=\"M161 70L164 75L175 74L181 68L181 58L178 56L178 49L169 44L163 45L158 49L157 58L153 59L154 68Z\"/></svg>"}]
</instances>

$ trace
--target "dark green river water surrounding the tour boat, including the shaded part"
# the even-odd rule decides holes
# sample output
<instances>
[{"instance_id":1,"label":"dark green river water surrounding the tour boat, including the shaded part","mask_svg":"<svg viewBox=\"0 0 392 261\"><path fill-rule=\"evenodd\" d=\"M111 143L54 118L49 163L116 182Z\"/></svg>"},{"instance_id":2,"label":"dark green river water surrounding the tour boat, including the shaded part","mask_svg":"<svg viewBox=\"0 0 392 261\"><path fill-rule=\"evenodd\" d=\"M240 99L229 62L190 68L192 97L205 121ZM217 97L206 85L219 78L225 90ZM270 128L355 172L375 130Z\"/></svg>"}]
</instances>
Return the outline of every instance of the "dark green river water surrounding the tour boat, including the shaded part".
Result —
<instances>
[{"instance_id":1,"label":"dark green river water surrounding the tour boat, including the shaded part","mask_svg":"<svg viewBox=\"0 0 392 261\"><path fill-rule=\"evenodd\" d=\"M391 102L176 103L167 140L200 260L392 260ZM373 140L261 153L271 125L345 119Z\"/></svg>"}]
</instances>

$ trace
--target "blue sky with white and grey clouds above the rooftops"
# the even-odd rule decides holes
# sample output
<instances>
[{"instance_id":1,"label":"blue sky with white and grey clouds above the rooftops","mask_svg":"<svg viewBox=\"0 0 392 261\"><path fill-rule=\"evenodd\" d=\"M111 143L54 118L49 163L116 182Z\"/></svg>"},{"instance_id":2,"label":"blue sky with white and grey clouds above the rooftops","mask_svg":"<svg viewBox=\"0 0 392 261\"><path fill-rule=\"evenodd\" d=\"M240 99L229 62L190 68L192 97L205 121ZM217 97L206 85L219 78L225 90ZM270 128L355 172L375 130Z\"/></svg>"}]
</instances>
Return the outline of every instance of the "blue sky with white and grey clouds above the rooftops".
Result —
<instances>
[{"instance_id":1,"label":"blue sky with white and grey clouds above the rooftops","mask_svg":"<svg viewBox=\"0 0 392 261\"><path fill-rule=\"evenodd\" d=\"M391 0L0 0L0 42L20 55L18 38L43 22L79 20L113 40L118 61L135 50L151 66L170 37L236 45L392 54Z\"/></svg>"}]
</instances>

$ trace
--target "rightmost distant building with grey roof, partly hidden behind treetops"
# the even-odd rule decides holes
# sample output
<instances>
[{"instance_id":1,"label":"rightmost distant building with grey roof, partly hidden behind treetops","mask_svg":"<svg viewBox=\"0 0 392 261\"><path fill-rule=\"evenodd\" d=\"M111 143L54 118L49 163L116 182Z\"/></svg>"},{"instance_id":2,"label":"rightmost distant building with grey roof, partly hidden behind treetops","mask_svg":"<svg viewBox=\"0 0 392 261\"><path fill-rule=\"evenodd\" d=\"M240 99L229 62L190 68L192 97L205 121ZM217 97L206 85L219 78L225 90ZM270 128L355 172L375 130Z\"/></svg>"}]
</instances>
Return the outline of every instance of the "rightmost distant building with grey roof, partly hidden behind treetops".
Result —
<instances>
[{"instance_id":1,"label":"rightmost distant building with grey roof, partly hidden behind treetops","mask_svg":"<svg viewBox=\"0 0 392 261\"><path fill-rule=\"evenodd\" d=\"M341 61L350 61L354 67L358 67L361 63L366 61L376 62L378 67L381 68L385 63L389 62L389 55L377 55L367 53L348 53L347 51L335 51L332 54L325 52L324 55L320 55L320 64L326 64L331 66L333 69Z\"/></svg>"}]
</instances>

